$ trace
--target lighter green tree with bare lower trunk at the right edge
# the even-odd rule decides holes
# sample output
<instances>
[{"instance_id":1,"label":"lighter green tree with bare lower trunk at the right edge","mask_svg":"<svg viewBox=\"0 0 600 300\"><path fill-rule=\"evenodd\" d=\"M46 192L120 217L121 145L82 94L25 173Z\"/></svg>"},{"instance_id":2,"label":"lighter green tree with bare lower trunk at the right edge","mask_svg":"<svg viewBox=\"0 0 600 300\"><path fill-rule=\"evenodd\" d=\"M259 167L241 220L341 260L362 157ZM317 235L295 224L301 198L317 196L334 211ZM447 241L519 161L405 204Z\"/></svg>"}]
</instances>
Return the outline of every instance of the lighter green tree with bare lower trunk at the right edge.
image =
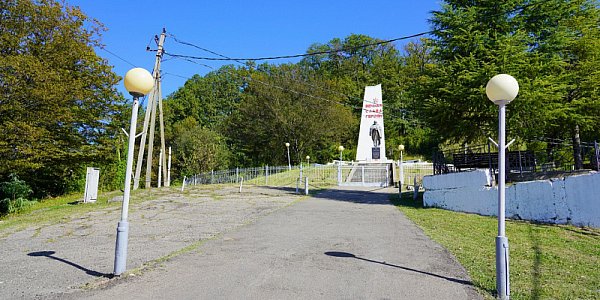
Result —
<instances>
[{"instance_id":1,"label":"lighter green tree with bare lower trunk at the right edge","mask_svg":"<svg viewBox=\"0 0 600 300\"><path fill-rule=\"evenodd\" d=\"M523 27L537 65L546 112L543 132L572 139L573 162L583 166L580 134L597 139L600 129L600 8L598 1L531 1Z\"/></svg>"}]
</instances>

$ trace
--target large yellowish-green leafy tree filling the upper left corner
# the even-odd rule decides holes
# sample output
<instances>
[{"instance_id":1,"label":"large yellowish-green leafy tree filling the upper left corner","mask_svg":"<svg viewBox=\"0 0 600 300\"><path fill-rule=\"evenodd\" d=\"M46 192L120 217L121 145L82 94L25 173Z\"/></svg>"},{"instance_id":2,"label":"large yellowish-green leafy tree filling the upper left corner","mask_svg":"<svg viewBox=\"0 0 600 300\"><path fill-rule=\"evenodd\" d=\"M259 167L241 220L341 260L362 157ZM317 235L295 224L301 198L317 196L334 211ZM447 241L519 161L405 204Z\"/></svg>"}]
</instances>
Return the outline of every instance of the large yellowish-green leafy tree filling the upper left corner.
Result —
<instances>
[{"instance_id":1,"label":"large yellowish-green leafy tree filling the upper left corner","mask_svg":"<svg viewBox=\"0 0 600 300\"><path fill-rule=\"evenodd\" d=\"M53 0L1 0L0 178L58 194L99 147L119 111L119 78L93 50L102 25Z\"/></svg>"}]
</instances>

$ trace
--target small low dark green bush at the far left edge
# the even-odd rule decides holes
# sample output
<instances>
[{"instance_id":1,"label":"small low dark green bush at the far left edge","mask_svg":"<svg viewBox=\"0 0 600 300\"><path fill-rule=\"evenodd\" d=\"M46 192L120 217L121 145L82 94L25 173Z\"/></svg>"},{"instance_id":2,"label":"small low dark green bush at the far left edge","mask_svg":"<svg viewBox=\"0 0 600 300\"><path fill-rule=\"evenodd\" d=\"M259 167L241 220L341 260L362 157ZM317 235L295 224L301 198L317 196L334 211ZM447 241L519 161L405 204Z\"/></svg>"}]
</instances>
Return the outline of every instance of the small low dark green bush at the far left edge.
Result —
<instances>
[{"instance_id":1,"label":"small low dark green bush at the far left edge","mask_svg":"<svg viewBox=\"0 0 600 300\"><path fill-rule=\"evenodd\" d=\"M9 181L0 182L0 215L16 213L35 202L27 200L33 191L25 181L15 174L9 177Z\"/></svg>"}]
</instances>

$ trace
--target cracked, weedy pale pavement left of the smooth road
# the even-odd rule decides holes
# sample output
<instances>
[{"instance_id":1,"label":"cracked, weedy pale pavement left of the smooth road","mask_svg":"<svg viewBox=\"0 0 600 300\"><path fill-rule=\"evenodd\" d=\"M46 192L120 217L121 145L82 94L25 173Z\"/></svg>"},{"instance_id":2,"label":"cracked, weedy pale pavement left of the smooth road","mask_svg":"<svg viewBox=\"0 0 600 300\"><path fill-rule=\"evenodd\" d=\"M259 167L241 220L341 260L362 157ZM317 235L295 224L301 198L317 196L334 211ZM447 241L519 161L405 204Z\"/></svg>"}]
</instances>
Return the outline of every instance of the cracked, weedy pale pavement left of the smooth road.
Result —
<instances>
[{"instance_id":1,"label":"cracked, weedy pale pavement left of the smooth road","mask_svg":"<svg viewBox=\"0 0 600 300\"><path fill-rule=\"evenodd\" d=\"M291 191L234 187L153 189L132 197L127 270L232 231L301 199ZM46 299L102 285L113 272L120 206L0 232L0 299ZM139 272L138 272L139 273Z\"/></svg>"}]
</instances>

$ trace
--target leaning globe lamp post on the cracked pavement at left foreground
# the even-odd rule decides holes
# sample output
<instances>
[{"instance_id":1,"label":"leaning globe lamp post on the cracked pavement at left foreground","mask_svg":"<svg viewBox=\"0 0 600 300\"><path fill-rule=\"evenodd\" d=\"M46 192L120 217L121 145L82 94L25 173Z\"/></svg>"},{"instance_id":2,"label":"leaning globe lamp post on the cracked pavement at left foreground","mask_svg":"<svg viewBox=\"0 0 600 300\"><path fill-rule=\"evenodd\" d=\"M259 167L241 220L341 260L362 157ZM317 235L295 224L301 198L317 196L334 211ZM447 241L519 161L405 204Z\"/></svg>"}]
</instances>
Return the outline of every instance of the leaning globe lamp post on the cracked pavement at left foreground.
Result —
<instances>
[{"instance_id":1,"label":"leaning globe lamp post on the cracked pavement at left foreground","mask_svg":"<svg viewBox=\"0 0 600 300\"><path fill-rule=\"evenodd\" d=\"M125 74L125 88L133 96L131 110L131 123L129 125L129 146L127 148L127 166L125 169L125 189L123 191L123 207L121 221L117 225L117 243L115 247L115 275L125 271L127 263L127 239L129 235L129 222L127 213L129 209L129 194L131 192L131 169L133 167L133 149L135 147L135 127L139 108L138 98L146 95L154 87L154 78L150 72L142 68L133 68Z\"/></svg>"}]
</instances>

